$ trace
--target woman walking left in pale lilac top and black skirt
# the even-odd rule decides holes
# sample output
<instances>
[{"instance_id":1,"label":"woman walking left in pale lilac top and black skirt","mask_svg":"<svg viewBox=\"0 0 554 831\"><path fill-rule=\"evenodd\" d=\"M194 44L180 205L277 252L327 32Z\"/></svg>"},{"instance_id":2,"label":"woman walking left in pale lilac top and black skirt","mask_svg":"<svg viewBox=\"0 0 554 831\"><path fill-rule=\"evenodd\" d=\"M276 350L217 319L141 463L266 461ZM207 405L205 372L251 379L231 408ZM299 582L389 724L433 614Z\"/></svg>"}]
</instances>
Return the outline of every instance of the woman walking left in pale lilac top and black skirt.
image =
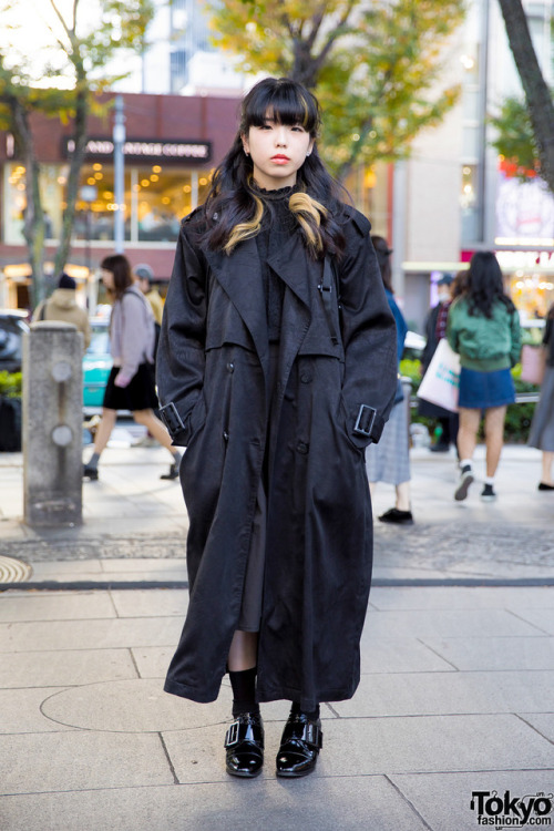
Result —
<instances>
[{"instance_id":1,"label":"woman walking left in pale lilac top and black skirt","mask_svg":"<svg viewBox=\"0 0 554 831\"><path fill-rule=\"evenodd\" d=\"M110 319L110 349L113 368L107 379L102 420L94 438L94 450L83 476L99 478L99 459L115 427L117 410L131 410L137 424L144 424L173 456L170 472L162 479L176 479L181 453L172 447L167 430L154 416L157 397L154 383L154 317L142 291L134 285L131 265L122 254L105 257L102 280L113 298Z\"/></svg>"}]
</instances>

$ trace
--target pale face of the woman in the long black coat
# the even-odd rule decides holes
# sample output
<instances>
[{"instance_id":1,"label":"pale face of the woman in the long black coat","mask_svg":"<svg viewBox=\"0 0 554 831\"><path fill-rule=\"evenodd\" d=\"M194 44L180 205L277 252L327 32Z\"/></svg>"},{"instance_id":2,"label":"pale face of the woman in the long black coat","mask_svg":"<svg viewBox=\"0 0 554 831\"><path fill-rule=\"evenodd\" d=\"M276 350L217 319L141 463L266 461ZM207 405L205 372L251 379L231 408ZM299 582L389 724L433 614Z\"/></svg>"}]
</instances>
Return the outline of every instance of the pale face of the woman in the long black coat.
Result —
<instances>
[{"instance_id":1,"label":"pale face of the woman in the long black coat","mask_svg":"<svg viewBox=\"0 0 554 831\"><path fill-rule=\"evenodd\" d=\"M296 173L311 153L314 140L301 124L279 124L268 113L260 127L243 135L245 152L252 156L254 178L266 191L296 183Z\"/></svg>"}]
</instances>

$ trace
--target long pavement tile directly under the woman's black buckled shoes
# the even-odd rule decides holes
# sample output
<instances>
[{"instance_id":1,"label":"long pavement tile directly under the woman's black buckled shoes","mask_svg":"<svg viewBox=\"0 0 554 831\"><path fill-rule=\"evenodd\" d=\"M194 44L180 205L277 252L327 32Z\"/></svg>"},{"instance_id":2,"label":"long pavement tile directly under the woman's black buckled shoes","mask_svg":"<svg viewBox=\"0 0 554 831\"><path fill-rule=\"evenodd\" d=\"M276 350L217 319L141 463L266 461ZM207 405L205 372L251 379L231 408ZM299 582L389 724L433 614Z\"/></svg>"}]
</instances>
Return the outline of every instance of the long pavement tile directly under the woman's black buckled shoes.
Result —
<instances>
[{"instance_id":1,"label":"long pavement tile directly under the woman's black buckled shoes","mask_svg":"<svg viewBox=\"0 0 554 831\"><path fill-rule=\"evenodd\" d=\"M264 778L274 776L283 724L265 720ZM224 735L224 725L164 733L179 782L225 780ZM511 715L349 718L325 721L310 779L551 767L552 745Z\"/></svg>"}]
</instances>

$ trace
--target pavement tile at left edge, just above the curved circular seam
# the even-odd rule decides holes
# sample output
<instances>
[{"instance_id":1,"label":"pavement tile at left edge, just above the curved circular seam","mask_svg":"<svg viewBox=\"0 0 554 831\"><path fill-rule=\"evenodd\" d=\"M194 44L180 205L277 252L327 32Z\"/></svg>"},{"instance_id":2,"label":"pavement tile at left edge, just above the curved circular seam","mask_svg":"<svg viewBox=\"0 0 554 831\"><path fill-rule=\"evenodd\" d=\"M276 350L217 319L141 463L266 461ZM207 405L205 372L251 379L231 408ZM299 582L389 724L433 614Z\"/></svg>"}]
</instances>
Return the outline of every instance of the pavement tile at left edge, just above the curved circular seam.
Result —
<instances>
[{"instance_id":1,"label":"pavement tile at left edge, just above the curved circular seam","mask_svg":"<svg viewBox=\"0 0 554 831\"><path fill-rule=\"evenodd\" d=\"M68 687L95 681L136 678L130 649L4 653L0 687Z\"/></svg>"}]
</instances>

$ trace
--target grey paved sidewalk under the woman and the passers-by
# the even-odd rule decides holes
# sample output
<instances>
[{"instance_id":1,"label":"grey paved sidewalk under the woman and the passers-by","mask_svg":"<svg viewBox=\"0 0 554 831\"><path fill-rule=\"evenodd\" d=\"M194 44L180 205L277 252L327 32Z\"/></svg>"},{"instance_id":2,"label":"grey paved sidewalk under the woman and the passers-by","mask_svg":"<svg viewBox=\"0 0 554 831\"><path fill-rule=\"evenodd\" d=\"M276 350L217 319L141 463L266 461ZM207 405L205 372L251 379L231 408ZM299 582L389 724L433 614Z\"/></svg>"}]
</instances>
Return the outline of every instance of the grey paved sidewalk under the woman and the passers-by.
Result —
<instances>
[{"instance_id":1,"label":"grey paved sidewalk under the woman and the passers-by","mask_svg":"<svg viewBox=\"0 0 554 831\"><path fill-rule=\"evenodd\" d=\"M0 454L0 555L37 584L104 586L0 593L2 831L469 831L506 792L495 828L516 827L515 798L554 823L531 802L546 811L554 792L554 499L536 491L536 451L506 448L494 505L478 484L455 504L453 455L413 452L417 524L376 523L360 687L322 707L325 747L298 781L274 773L285 702L263 705L250 782L225 772L227 683L213 705L162 690L187 604L145 587L186 581L166 465L111 448L85 524L39 533L20 523L21 458ZM378 490L376 513L391 497Z\"/></svg>"}]
</instances>

